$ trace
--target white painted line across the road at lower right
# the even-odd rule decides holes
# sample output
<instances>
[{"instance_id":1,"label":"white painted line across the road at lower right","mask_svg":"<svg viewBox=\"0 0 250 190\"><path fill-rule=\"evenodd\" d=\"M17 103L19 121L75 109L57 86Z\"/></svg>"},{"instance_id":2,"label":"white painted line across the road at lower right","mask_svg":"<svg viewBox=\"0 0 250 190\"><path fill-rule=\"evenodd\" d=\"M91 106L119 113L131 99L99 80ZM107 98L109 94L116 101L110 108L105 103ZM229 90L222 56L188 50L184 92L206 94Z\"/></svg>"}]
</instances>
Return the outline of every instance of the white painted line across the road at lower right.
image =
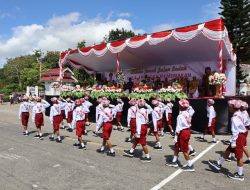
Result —
<instances>
[{"instance_id":1,"label":"white painted line across the road at lower right","mask_svg":"<svg viewBox=\"0 0 250 190\"><path fill-rule=\"evenodd\" d=\"M209 150L211 150L213 147L215 147L220 141L218 141L215 144L210 145L205 150L203 150L197 157L192 159L192 163L195 163L197 160L199 160L202 156L204 156ZM174 179L176 176L178 176L180 173L183 172L183 169L179 168L177 171L175 171L172 175L168 176L166 179L162 180L159 184L151 188L151 190L158 190L162 188L164 185L166 185L168 182L170 182L172 179Z\"/></svg>"}]
</instances>

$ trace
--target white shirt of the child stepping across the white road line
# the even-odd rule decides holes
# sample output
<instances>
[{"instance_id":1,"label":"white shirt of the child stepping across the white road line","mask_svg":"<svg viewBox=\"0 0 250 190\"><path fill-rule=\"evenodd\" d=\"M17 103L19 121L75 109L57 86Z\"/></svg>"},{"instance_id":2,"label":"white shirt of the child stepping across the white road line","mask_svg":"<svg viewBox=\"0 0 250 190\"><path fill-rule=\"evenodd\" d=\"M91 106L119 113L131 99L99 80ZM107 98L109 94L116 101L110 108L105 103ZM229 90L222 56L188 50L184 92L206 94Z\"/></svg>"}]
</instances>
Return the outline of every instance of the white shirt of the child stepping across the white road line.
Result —
<instances>
[{"instance_id":1,"label":"white shirt of the child stepping across the white road line","mask_svg":"<svg viewBox=\"0 0 250 190\"><path fill-rule=\"evenodd\" d=\"M181 111L177 117L176 130L175 133L179 134L183 129L191 127L191 116L189 112Z\"/></svg>"}]
</instances>

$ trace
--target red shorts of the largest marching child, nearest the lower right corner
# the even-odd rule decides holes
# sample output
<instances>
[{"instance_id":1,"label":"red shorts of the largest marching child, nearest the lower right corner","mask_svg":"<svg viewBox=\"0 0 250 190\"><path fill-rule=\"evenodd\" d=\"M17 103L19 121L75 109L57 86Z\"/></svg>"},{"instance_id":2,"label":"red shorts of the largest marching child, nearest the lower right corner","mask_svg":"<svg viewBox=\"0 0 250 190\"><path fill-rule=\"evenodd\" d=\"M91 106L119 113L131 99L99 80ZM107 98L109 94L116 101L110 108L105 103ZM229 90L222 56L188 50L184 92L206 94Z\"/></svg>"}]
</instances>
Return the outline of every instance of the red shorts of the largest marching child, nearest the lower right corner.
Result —
<instances>
[{"instance_id":1,"label":"red shorts of the largest marching child, nearest the lower right corner","mask_svg":"<svg viewBox=\"0 0 250 190\"><path fill-rule=\"evenodd\" d=\"M241 159L243 157L243 148L246 144L246 134L240 133L236 140L236 147L232 148L231 145L227 147L227 150L235 154L235 158Z\"/></svg>"}]
</instances>

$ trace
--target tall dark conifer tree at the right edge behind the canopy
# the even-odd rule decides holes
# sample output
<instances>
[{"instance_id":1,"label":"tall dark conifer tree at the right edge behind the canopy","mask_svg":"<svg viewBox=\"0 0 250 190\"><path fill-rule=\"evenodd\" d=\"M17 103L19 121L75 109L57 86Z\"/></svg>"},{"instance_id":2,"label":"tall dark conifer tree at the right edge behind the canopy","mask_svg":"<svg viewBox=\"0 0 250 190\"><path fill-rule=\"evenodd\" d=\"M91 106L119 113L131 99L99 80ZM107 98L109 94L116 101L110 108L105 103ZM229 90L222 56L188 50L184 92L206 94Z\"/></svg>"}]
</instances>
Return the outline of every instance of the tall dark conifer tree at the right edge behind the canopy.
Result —
<instances>
[{"instance_id":1,"label":"tall dark conifer tree at the right edge behind the canopy","mask_svg":"<svg viewBox=\"0 0 250 190\"><path fill-rule=\"evenodd\" d=\"M237 82L244 80L240 64L250 64L250 1L221 0L220 15L237 55Z\"/></svg>"}]
</instances>

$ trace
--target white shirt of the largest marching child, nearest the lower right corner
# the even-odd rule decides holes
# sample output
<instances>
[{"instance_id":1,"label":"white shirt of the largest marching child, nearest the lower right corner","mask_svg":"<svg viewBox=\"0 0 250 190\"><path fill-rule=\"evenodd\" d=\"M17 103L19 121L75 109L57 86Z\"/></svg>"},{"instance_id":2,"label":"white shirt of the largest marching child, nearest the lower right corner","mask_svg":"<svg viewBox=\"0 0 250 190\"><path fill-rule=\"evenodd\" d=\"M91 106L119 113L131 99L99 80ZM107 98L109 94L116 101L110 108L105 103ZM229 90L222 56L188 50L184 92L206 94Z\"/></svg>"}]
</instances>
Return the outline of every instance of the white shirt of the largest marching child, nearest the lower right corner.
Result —
<instances>
[{"instance_id":1,"label":"white shirt of the largest marching child, nearest the lower right corner","mask_svg":"<svg viewBox=\"0 0 250 190\"><path fill-rule=\"evenodd\" d=\"M246 127L243 122L244 121L241 111L235 112L231 119L231 131L232 131L231 142L235 143L239 133L246 132Z\"/></svg>"}]
</instances>

